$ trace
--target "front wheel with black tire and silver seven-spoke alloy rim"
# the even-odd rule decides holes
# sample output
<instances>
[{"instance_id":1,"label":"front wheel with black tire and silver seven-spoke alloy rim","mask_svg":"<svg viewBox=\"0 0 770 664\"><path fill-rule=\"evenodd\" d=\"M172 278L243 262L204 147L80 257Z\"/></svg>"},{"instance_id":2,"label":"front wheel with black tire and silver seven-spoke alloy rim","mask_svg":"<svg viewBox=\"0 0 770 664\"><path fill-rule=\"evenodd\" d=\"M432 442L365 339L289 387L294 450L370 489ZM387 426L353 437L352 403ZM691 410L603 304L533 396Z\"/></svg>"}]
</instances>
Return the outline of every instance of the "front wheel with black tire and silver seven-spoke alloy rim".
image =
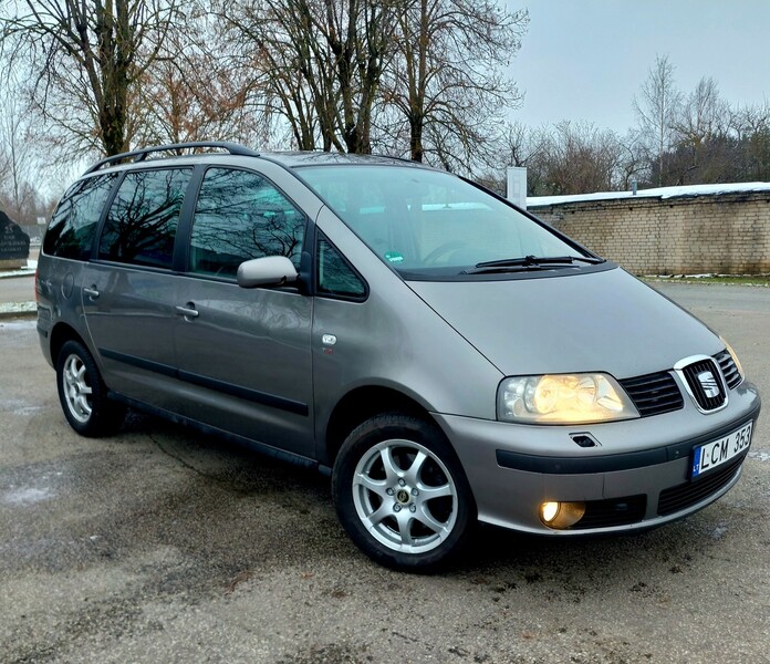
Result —
<instances>
[{"instance_id":1,"label":"front wheel with black tire and silver seven-spoke alloy rim","mask_svg":"<svg viewBox=\"0 0 770 664\"><path fill-rule=\"evenodd\" d=\"M343 443L332 474L337 516L374 561L430 571L455 558L476 523L476 504L455 450L433 424L373 417Z\"/></svg>"}]
</instances>

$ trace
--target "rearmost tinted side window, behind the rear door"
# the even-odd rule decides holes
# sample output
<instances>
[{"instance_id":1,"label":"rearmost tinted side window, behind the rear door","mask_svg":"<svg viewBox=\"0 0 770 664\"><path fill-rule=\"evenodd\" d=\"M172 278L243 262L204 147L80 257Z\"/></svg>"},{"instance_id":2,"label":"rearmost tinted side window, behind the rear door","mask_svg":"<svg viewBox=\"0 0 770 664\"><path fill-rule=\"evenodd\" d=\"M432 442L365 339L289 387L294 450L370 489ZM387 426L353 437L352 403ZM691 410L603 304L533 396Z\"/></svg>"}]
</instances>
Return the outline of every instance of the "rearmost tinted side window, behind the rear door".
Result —
<instances>
[{"instance_id":1,"label":"rearmost tinted side window, behind the rear door","mask_svg":"<svg viewBox=\"0 0 770 664\"><path fill-rule=\"evenodd\" d=\"M102 209L116 177L115 174L105 174L83 180L73 194L62 199L45 232L45 253L89 259Z\"/></svg>"}]
</instances>

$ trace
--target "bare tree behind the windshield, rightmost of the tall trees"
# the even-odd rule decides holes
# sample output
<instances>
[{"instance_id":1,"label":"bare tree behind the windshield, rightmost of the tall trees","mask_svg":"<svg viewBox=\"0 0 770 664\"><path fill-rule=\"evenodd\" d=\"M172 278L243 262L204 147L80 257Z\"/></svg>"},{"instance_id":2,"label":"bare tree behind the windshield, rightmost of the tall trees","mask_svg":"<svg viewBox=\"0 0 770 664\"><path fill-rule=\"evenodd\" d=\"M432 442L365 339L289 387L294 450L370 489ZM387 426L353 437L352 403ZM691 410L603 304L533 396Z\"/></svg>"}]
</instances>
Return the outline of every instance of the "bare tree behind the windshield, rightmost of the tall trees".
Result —
<instances>
[{"instance_id":1,"label":"bare tree behind the windshield, rightmost of the tall trees","mask_svg":"<svg viewBox=\"0 0 770 664\"><path fill-rule=\"evenodd\" d=\"M529 15L491 0L406 0L402 7L383 103L406 123L412 159L471 170L471 162L491 154L502 113L521 103L501 68L521 46ZM387 132L407 133L393 118Z\"/></svg>"}]
</instances>

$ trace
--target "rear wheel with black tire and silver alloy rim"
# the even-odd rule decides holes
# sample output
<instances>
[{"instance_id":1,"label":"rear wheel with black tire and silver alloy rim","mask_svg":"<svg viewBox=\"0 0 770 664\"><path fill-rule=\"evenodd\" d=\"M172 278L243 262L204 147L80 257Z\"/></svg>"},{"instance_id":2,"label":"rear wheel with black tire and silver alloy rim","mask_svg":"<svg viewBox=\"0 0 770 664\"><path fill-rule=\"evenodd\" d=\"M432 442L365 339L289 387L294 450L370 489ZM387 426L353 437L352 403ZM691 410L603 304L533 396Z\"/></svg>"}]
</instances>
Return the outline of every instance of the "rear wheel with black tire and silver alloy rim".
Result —
<instances>
[{"instance_id":1,"label":"rear wheel with black tire and silver alloy rim","mask_svg":"<svg viewBox=\"0 0 770 664\"><path fill-rule=\"evenodd\" d=\"M114 434L125 417L125 406L107 398L107 387L85 346L67 341L56 357L59 401L70 426L82 436Z\"/></svg>"}]
</instances>

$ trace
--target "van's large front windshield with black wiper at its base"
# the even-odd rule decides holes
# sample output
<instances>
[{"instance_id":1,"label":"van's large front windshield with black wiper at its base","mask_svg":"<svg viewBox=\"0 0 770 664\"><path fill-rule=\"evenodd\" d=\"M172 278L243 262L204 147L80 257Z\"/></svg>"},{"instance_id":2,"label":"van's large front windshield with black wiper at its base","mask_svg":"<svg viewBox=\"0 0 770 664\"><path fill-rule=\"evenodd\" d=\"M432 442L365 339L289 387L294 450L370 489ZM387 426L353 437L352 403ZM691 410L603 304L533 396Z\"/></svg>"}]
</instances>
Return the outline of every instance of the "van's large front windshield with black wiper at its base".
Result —
<instances>
[{"instance_id":1,"label":"van's large front windshield with black wiper at its base","mask_svg":"<svg viewBox=\"0 0 770 664\"><path fill-rule=\"evenodd\" d=\"M565 257L586 256L514 208L448 173L355 165L304 167L302 176L382 260L404 277L564 269L570 267ZM516 260L532 257L559 260ZM499 264L478 268L492 261Z\"/></svg>"}]
</instances>

